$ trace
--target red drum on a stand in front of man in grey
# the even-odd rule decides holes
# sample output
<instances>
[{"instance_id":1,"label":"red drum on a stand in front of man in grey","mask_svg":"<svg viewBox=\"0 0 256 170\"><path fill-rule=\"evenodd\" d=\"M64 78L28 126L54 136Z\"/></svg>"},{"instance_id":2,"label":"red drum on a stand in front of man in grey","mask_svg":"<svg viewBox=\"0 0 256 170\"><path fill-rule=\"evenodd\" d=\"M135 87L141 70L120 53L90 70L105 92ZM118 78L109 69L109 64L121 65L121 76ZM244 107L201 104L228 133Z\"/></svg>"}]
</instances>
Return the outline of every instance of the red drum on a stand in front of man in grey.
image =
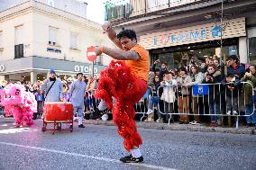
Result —
<instances>
[{"instance_id":1,"label":"red drum on a stand in front of man in grey","mask_svg":"<svg viewBox=\"0 0 256 170\"><path fill-rule=\"evenodd\" d=\"M74 109L72 103L45 103L43 107L44 121L73 120Z\"/></svg>"}]
</instances>

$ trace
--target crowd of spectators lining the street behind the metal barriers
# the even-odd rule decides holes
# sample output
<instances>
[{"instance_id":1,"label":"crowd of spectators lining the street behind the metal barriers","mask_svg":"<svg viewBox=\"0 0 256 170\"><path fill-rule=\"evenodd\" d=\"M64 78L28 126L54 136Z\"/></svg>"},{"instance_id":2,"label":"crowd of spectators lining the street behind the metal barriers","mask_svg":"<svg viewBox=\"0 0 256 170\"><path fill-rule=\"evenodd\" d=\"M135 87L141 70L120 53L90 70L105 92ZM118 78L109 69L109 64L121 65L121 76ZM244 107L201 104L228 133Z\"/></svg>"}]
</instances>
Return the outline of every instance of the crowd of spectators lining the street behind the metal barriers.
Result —
<instances>
[{"instance_id":1,"label":"crowd of spectators lining the street behind the metal barriers","mask_svg":"<svg viewBox=\"0 0 256 170\"><path fill-rule=\"evenodd\" d=\"M226 70L226 71L224 71ZM85 118L100 119L106 112L97 110L98 100L94 97L97 76L84 76L87 92L84 97ZM61 80L65 102L70 102L69 86L74 79ZM246 82L246 83L243 83ZM25 86L38 101L38 112L42 112L43 94L41 81L33 85L22 79L17 84ZM5 88L8 82L3 81L0 88ZM193 93L195 85L209 85L208 94ZM252 88L256 85L255 66L243 65L238 56L229 56L223 65L216 56L198 60L190 58L187 66L170 68L166 62L155 60L148 76L148 93L144 95L142 106L147 118L144 121L173 122L180 124L202 124L209 122L210 126L224 124L225 115L251 115L254 111ZM241 102L242 101L242 102ZM243 105L243 107L242 107ZM134 107L136 112L138 107ZM97 113L97 114L95 114ZM191 114L191 115L190 115ZM205 114L210 114L208 119ZM111 119L111 116L109 116ZM255 126L256 114L246 117L247 126Z\"/></svg>"}]
</instances>

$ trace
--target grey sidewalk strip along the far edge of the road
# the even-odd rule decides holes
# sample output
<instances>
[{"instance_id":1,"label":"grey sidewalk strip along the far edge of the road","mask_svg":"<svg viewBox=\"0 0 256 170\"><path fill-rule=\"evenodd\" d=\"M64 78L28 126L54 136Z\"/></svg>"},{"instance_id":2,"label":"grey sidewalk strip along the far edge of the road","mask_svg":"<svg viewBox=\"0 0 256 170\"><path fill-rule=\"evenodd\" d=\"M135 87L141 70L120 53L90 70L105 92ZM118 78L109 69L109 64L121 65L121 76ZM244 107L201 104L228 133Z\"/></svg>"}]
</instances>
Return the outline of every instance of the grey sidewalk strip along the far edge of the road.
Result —
<instances>
[{"instance_id":1,"label":"grey sidewalk strip along the far edge of the road","mask_svg":"<svg viewBox=\"0 0 256 170\"><path fill-rule=\"evenodd\" d=\"M0 123L11 123L14 122L14 118L0 118ZM85 124L94 125L105 125L105 126L115 126L113 121L101 121L101 120L85 120ZM206 125L191 125L191 124L178 124L178 123L159 123L159 122L138 122L138 128L144 129L155 129L155 130L189 130L189 131L203 131L203 132L221 132L221 133L233 133L233 134L250 134L255 135L256 128L250 127L239 127L235 128L223 128L223 127L206 127Z\"/></svg>"}]
</instances>

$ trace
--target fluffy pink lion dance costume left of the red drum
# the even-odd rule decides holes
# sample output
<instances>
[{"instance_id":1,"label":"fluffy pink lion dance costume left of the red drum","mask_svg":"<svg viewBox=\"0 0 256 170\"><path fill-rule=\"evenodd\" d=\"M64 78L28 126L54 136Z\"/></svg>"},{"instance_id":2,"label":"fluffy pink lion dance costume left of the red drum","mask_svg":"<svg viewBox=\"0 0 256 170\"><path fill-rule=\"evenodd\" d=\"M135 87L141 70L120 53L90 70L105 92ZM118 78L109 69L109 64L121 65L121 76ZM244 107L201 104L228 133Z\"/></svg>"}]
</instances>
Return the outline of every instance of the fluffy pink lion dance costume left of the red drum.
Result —
<instances>
[{"instance_id":1,"label":"fluffy pink lion dance costume left of the red drum","mask_svg":"<svg viewBox=\"0 0 256 170\"><path fill-rule=\"evenodd\" d=\"M4 90L0 90L0 96L5 112L14 115L16 127L33 124L32 115L37 109L35 97L26 92L23 85L6 85Z\"/></svg>"}]
</instances>

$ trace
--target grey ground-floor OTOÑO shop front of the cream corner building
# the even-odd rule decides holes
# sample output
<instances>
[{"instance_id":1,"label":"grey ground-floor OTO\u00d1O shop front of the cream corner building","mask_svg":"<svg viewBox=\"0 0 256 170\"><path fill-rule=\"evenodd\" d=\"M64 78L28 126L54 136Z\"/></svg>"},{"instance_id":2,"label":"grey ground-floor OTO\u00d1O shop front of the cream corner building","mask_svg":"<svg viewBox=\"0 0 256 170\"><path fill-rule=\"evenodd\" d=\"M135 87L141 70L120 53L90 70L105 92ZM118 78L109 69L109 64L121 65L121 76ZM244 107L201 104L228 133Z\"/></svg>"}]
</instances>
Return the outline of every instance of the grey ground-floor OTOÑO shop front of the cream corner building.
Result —
<instances>
[{"instance_id":1,"label":"grey ground-floor OTO\u00d1O shop front of the cream corner building","mask_svg":"<svg viewBox=\"0 0 256 170\"><path fill-rule=\"evenodd\" d=\"M92 65L76 61L59 60L55 58L28 57L1 61L0 81L6 80L17 82L21 80L30 81L32 84L37 80L47 77L50 68L54 69L60 79L74 77L78 72L86 76L99 73L105 66Z\"/></svg>"}]
</instances>

